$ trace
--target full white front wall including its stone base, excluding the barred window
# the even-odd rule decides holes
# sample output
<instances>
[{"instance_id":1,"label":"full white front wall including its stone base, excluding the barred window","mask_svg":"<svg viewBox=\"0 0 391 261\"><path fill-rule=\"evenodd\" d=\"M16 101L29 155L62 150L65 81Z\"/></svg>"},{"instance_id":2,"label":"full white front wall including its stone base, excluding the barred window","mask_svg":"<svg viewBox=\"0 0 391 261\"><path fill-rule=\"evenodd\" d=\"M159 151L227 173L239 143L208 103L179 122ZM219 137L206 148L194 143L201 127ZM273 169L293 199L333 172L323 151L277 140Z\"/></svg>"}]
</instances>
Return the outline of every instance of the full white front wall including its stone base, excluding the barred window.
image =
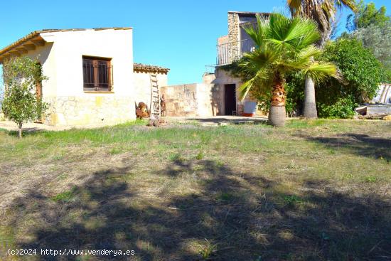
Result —
<instances>
[{"instance_id":1,"label":"full white front wall including its stone base, excluding the barred window","mask_svg":"<svg viewBox=\"0 0 391 261\"><path fill-rule=\"evenodd\" d=\"M49 77L43 82L43 99L52 105L47 124L111 124L135 119L132 29L60 31L41 36L47 43L29 51L28 56L39 55L43 73ZM83 55L111 58L112 93L84 92Z\"/></svg>"}]
</instances>

